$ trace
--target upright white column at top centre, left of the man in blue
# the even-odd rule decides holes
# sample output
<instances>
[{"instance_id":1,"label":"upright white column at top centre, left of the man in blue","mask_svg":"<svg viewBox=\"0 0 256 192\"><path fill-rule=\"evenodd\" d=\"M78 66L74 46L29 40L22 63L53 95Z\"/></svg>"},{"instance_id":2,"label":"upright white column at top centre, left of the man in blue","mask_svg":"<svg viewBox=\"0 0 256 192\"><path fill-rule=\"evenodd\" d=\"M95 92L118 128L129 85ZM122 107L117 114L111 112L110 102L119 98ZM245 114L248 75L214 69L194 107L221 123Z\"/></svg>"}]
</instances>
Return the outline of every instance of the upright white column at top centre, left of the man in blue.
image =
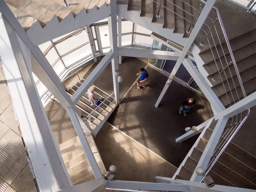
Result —
<instances>
[{"instance_id":1,"label":"upright white column at top centre, left of the man in blue","mask_svg":"<svg viewBox=\"0 0 256 192\"><path fill-rule=\"evenodd\" d=\"M108 30L109 30L109 41L110 48L113 52L112 63L112 75L113 75L113 85L115 93L116 104L120 103L119 96L119 82L117 81L117 76L115 71L118 70L118 47L117 47L117 23L116 23L116 0L111 0L111 16L108 17ZM122 75L122 74L121 74Z\"/></svg>"}]
</instances>

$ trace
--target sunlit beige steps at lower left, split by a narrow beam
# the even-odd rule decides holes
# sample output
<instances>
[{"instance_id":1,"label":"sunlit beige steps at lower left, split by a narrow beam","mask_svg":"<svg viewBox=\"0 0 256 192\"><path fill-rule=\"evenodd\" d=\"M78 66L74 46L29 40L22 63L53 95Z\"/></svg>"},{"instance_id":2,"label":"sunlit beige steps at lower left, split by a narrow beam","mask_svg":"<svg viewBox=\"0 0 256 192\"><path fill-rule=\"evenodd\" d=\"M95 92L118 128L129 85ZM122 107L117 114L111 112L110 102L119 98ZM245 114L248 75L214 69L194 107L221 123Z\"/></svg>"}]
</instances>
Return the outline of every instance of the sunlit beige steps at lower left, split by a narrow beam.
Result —
<instances>
[{"instance_id":1,"label":"sunlit beige steps at lower left, split by a narrow beam","mask_svg":"<svg viewBox=\"0 0 256 192\"><path fill-rule=\"evenodd\" d=\"M100 157L98 148L93 140L93 136L91 134L87 134L86 138L101 173L105 174L106 169L102 162L102 158ZM95 179L78 136L61 143L59 148L73 185L78 185L80 183Z\"/></svg>"}]
</instances>

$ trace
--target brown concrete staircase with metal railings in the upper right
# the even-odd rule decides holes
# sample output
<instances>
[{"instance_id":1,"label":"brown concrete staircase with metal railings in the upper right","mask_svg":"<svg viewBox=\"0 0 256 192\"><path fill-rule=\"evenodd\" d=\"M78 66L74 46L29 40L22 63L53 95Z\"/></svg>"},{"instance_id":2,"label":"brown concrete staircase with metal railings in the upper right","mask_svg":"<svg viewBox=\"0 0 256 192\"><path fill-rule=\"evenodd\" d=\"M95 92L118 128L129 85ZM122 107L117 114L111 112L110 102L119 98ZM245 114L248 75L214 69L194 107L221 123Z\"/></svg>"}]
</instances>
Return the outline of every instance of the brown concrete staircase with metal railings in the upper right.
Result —
<instances>
[{"instance_id":1,"label":"brown concrete staircase with metal railings in the upper right","mask_svg":"<svg viewBox=\"0 0 256 192\"><path fill-rule=\"evenodd\" d=\"M195 15L196 9L198 9L200 5L199 0L163 0L164 7L160 9L160 18L157 18L156 15L160 0L117 0L117 3L119 4L118 9L120 9L120 11L118 10L119 16L142 25L158 35L163 36L163 39L166 38L174 41L176 44L181 45L180 47L185 44L186 39L190 35L186 33L190 25L188 20L192 21L192 15ZM128 5L126 10L128 10L133 17L129 16L128 13L125 14L124 5ZM217 0L215 7L218 8L220 12L246 94L249 95L256 90L256 15L248 14L246 9L228 0ZM204 5L202 5L202 9L203 8ZM138 18L137 12L144 20ZM216 12L212 10L209 17L215 20L217 17ZM149 23L149 20L151 23ZM212 21L207 19L205 23L211 26L210 23L212 23ZM213 31L213 39L216 47L211 38L209 38L211 46L209 46L208 41L204 42L203 47L200 46L201 41L205 37L205 32L209 31L209 27L204 25L202 29L205 32L202 30L199 32L192 46L192 53L196 63L203 68L203 70L201 70L199 67L201 74L205 79L209 80L208 82L212 86L212 90L214 90L215 94L227 108L230 106L229 100L232 105L233 97L235 101L238 101L238 99L243 98L243 94L233 65L230 66L230 71L228 68L224 71L227 77L222 73L221 77L219 76L215 82L212 81L212 78L218 74L218 71L221 71L223 67L231 61L230 53L218 22L215 27L219 36L217 37L215 31ZM190 31L192 31L192 29L190 29ZM222 49L224 54L222 54ZM216 50L218 50L220 60L218 59ZM199 55L199 57L197 55ZM230 85L228 85L228 83ZM225 93L224 87L227 90L227 94ZM236 95L236 91L238 96Z\"/></svg>"}]
</instances>

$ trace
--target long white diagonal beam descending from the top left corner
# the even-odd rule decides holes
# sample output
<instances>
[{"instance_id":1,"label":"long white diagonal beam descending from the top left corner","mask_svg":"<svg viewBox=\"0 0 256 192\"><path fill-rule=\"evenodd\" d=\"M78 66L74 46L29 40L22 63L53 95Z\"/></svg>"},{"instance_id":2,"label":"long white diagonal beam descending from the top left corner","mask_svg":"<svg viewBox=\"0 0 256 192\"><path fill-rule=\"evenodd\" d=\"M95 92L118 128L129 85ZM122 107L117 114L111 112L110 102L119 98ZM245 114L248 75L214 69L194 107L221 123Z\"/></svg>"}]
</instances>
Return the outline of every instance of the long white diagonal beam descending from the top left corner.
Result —
<instances>
[{"instance_id":1,"label":"long white diagonal beam descending from the top left corner","mask_svg":"<svg viewBox=\"0 0 256 192\"><path fill-rule=\"evenodd\" d=\"M47 87L47 89L55 96L55 98L61 103L64 108L72 107L76 110L76 113L80 114L79 110L76 108L75 104L71 101L70 97L67 95L64 87L60 83L59 79L56 77L56 73L52 68L50 68L47 62L44 60L41 53L29 39L28 35L13 15L12 11L6 5L4 0L0 0L0 12L10 23L12 28L17 32L20 39L26 44L26 46L31 51L32 55L35 57L35 61L32 61L32 71L41 80L41 82ZM33 58L33 57L32 57Z\"/></svg>"}]
</instances>

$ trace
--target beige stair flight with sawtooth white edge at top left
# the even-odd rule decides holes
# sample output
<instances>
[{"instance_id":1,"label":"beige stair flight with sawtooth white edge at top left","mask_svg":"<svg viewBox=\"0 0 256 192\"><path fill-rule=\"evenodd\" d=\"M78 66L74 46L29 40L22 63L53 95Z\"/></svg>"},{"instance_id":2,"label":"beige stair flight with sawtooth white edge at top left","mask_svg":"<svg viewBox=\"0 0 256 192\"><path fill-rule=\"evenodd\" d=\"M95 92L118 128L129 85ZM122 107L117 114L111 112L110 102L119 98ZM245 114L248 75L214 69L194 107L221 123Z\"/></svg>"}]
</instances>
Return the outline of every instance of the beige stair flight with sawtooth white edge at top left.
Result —
<instances>
[{"instance_id":1,"label":"beige stair flight with sawtooth white edge at top left","mask_svg":"<svg viewBox=\"0 0 256 192\"><path fill-rule=\"evenodd\" d=\"M108 0L67 0L67 3L70 3L68 7L63 6L63 0L5 1L35 45L58 38L110 15Z\"/></svg>"}]
</instances>

